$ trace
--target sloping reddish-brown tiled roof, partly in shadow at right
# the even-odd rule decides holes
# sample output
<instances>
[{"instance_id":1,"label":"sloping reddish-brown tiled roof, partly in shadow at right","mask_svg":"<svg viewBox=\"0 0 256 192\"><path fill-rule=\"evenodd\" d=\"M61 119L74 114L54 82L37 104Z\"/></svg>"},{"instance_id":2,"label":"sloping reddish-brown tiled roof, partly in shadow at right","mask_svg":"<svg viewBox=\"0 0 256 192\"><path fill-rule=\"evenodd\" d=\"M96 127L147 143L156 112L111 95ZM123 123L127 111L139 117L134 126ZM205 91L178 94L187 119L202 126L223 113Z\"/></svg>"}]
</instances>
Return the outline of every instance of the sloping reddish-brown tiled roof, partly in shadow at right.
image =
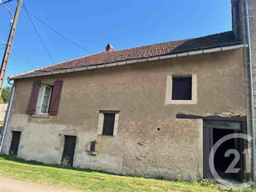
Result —
<instances>
[{"instance_id":1,"label":"sloping reddish-brown tiled roof, partly in shadow at right","mask_svg":"<svg viewBox=\"0 0 256 192\"><path fill-rule=\"evenodd\" d=\"M233 31L228 31L199 38L169 41L110 52L100 52L51 66L46 66L44 68L28 72L27 74L42 73L43 71L54 71L60 69L79 68L83 66L101 65L121 62L124 60L149 58L161 55L231 46L241 43L241 41L235 39Z\"/></svg>"}]
</instances>

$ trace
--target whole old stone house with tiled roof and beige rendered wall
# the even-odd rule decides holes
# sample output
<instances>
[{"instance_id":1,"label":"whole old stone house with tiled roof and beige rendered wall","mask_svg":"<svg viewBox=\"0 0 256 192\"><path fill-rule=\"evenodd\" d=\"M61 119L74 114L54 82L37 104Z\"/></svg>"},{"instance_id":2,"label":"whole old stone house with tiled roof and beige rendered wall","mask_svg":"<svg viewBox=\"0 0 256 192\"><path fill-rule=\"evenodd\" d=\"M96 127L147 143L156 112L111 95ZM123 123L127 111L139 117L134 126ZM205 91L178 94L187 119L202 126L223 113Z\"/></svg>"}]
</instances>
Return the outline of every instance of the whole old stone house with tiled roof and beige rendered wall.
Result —
<instances>
[{"instance_id":1,"label":"whole old stone house with tiled roof and beige rendered wall","mask_svg":"<svg viewBox=\"0 0 256 192\"><path fill-rule=\"evenodd\" d=\"M255 60L256 1L248 4ZM125 50L108 44L104 52L10 76L2 153L124 175L212 178L217 140L253 130L245 0L231 6L232 31ZM224 173L233 159L223 148L238 151L238 173ZM233 138L223 148L215 171L249 180L251 142Z\"/></svg>"}]
</instances>

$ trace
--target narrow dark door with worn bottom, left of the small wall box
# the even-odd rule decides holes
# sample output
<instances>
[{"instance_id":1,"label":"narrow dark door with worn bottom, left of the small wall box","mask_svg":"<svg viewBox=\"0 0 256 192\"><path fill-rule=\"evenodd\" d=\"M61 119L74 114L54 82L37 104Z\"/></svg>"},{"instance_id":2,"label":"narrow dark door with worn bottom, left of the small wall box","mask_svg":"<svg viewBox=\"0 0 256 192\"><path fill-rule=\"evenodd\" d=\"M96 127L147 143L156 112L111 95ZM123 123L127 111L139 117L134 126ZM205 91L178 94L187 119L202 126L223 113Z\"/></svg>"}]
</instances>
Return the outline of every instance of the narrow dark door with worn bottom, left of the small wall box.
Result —
<instances>
[{"instance_id":1,"label":"narrow dark door with worn bottom, left of the small wall box","mask_svg":"<svg viewBox=\"0 0 256 192\"><path fill-rule=\"evenodd\" d=\"M62 165L73 166L76 136L65 135L65 144L62 155Z\"/></svg>"}]
</instances>

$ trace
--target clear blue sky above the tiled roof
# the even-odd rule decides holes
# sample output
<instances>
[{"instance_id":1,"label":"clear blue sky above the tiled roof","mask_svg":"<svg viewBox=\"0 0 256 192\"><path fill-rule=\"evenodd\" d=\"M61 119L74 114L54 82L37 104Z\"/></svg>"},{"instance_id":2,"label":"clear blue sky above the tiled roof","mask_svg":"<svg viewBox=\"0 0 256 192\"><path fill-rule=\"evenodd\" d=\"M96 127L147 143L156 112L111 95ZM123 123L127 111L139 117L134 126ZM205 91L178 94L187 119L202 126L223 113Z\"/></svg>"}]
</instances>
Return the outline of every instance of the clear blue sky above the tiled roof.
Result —
<instances>
[{"instance_id":1,"label":"clear blue sky above the tiled roof","mask_svg":"<svg viewBox=\"0 0 256 192\"><path fill-rule=\"evenodd\" d=\"M24 1L34 15L93 53L108 43L118 50L231 30L230 0ZM17 2L5 5L14 12ZM10 19L0 6L1 60ZM55 63L90 54L32 20ZM53 64L24 9L13 46L6 77Z\"/></svg>"}]
</instances>

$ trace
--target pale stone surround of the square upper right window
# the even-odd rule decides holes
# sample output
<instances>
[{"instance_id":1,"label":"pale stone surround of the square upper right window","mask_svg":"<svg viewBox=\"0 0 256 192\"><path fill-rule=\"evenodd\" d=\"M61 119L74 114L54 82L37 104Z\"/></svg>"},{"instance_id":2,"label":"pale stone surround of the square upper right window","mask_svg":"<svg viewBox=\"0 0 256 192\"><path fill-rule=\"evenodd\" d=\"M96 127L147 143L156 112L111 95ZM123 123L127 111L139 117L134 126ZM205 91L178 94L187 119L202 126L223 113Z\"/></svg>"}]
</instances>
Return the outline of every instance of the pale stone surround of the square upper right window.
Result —
<instances>
[{"instance_id":1,"label":"pale stone surround of the square upper right window","mask_svg":"<svg viewBox=\"0 0 256 192\"><path fill-rule=\"evenodd\" d=\"M173 77L188 77L192 76L192 100L172 100L172 78ZM192 75L184 75L184 76L177 76L168 74L167 75L167 82L166 82L166 99L165 99L165 105L169 104L184 104L184 105L191 105L191 104L197 104L197 74Z\"/></svg>"}]
</instances>

